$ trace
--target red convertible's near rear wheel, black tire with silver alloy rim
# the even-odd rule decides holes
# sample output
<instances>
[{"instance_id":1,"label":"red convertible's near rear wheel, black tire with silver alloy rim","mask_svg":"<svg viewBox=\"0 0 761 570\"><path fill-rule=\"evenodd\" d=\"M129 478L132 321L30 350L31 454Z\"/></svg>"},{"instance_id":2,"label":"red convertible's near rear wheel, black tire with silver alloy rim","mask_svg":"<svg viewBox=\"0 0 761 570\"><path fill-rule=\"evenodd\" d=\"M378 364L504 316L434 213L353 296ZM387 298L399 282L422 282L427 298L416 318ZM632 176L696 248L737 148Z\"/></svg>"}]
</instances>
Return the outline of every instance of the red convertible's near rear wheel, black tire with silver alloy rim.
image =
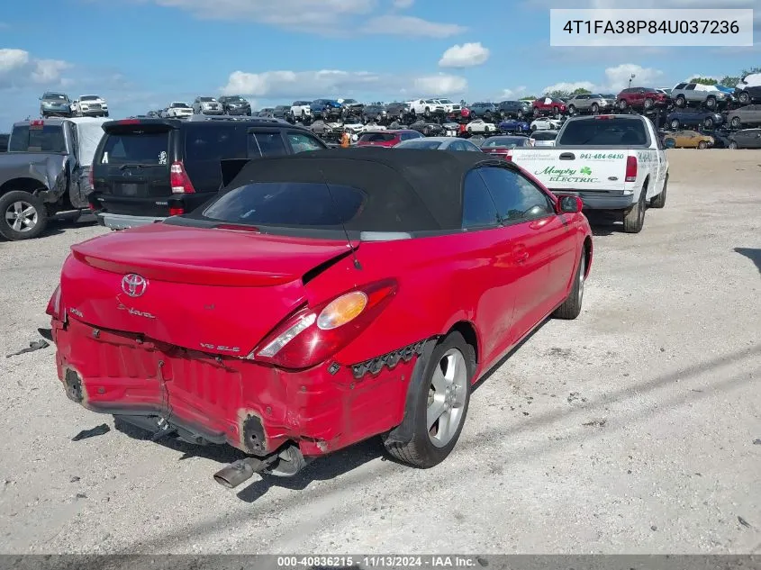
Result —
<instances>
[{"instance_id":1,"label":"red convertible's near rear wheel, black tire with silver alloy rim","mask_svg":"<svg viewBox=\"0 0 761 570\"><path fill-rule=\"evenodd\" d=\"M410 426L412 439L406 443L392 442L386 434L383 440L386 451L394 459L409 466L428 469L448 457L465 425L470 403L470 381L476 372L476 351L459 332L451 332L433 348L423 366L421 382L411 383L409 388L414 391L408 397L412 398L415 413L405 418L405 421L414 421L415 425ZM442 370L442 366L446 368ZM448 374L453 375L451 381L447 378ZM457 387L451 391L454 386ZM444 405L445 412L429 428L428 415L434 403ZM458 410L458 413L453 414L454 410ZM448 421L458 423L452 431L448 430L439 439L439 421L445 415ZM431 433L434 430L436 433ZM434 440L438 443L434 443Z\"/></svg>"}]
</instances>

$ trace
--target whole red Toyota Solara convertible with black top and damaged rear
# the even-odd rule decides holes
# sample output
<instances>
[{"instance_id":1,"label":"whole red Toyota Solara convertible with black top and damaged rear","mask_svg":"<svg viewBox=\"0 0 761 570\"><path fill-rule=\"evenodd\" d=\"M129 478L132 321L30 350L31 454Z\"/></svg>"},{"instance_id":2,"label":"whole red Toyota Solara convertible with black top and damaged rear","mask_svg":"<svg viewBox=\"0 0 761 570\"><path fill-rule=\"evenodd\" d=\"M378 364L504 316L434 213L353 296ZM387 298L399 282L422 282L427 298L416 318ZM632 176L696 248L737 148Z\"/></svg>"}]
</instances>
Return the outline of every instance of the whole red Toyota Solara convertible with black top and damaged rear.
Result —
<instances>
[{"instance_id":1,"label":"whole red Toyota Solara convertible with black top and damaged rear","mask_svg":"<svg viewBox=\"0 0 761 570\"><path fill-rule=\"evenodd\" d=\"M238 170L194 213L73 246L47 310L70 399L249 454L222 484L376 435L435 466L471 385L581 310L581 200L508 161L335 149Z\"/></svg>"}]
</instances>

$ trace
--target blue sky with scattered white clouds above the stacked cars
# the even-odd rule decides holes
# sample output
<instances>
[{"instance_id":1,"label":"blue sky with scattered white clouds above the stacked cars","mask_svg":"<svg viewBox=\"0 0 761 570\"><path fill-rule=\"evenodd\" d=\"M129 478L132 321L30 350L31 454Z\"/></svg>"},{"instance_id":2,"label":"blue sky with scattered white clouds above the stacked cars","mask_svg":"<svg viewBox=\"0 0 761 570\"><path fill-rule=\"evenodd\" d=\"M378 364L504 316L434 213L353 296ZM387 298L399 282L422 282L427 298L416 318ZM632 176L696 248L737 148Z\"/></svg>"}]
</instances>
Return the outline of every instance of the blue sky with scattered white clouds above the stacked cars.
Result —
<instances>
[{"instance_id":1,"label":"blue sky with scattered white clouds above the stacked cars","mask_svg":"<svg viewBox=\"0 0 761 570\"><path fill-rule=\"evenodd\" d=\"M550 86L674 86L761 66L738 48L552 48L550 7L756 8L759 0L25 0L0 12L0 131L46 89L104 96L112 116L197 95L493 100Z\"/></svg>"}]
</instances>

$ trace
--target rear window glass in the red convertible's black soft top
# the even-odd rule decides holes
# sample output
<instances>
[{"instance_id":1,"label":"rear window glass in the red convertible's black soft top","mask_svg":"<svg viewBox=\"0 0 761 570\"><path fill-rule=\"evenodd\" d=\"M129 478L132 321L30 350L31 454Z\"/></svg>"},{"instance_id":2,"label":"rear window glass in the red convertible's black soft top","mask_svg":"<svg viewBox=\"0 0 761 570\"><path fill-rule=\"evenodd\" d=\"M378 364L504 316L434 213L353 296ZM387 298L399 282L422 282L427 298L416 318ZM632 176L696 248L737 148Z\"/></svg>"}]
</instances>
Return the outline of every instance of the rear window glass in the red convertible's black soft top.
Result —
<instances>
[{"instance_id":1,"label":"rear window glass in the red convertible's black soft top","mask_svg":"<svg viewBox=\"0 0 761 570\"><path fill-rule=\"evenodd\" d=\"M204 210L204 217L251 225L334 227L354 218L364 202L365 194L350 186L266 182L220 196Z\"/></svg>"}]
</instances>

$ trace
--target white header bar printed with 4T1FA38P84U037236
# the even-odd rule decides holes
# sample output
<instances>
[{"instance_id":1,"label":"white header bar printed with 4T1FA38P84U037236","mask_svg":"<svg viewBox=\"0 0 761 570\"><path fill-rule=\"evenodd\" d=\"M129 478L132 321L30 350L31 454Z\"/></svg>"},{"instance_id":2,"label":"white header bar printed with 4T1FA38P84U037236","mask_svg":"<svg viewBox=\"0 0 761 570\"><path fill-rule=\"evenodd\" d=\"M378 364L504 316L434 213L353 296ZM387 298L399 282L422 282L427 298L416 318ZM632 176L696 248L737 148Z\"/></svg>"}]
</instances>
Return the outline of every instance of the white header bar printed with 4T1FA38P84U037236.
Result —
<instances>
[{"instance_id":1,"label":"white header bar printed with 4T1FA38P84U037236","mask_svg":"<svg viewBox=\"0 0 761 570\"><path fill-rule=\"evenodd\" d=\"M551 46L752 46L752 9L549 11Z\"/></svg>"}]
</instances>

